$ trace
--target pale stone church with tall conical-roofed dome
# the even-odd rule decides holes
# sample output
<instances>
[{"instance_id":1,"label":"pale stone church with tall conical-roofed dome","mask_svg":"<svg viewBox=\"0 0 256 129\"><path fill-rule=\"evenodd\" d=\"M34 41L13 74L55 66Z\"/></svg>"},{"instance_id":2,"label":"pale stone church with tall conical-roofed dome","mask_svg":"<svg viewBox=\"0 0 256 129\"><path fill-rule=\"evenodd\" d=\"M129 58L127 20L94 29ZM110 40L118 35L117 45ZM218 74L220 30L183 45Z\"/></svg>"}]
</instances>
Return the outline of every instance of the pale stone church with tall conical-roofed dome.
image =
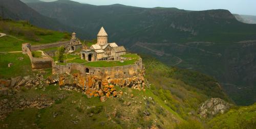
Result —
<instances>
[{"instance_id":1,"label":"pale stone church with tall conical-roofed dome","mask_svg":"<svg viewBox=\"0 0 256 129\"><path fill-rule=\"evenodd\" d=\"M87 61L120 60L120 56L125 54L126 49L123 46L118 46L115 42L108 43L108 34L101 27L97 35L97 43L93 44L90 49L82 49L81 59Z\"/></svg>"}]
</instances>

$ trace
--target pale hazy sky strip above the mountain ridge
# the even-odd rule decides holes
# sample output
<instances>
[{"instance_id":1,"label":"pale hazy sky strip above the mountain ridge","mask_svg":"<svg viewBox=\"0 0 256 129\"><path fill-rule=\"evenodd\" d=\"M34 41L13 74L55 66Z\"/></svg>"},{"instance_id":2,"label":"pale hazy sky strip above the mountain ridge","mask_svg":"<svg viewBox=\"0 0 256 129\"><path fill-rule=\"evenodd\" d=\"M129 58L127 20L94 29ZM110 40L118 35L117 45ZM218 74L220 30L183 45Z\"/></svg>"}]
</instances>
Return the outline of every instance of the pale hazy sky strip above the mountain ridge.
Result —
<instances>
[{"instance_id":1,"label":"pale hazy sky strip above the mountain ridge","mask_svg":"<svg viewBox=\"0 0 256 129\"><path fill-rule=\"evenodd\" d=\"M53 0L42 0L53 1ZM136 7L176 7L185 10L227 9L231 13L256 15L256 0L73 0L92 5L123 4Z\"/></svg>"}]
</instances>

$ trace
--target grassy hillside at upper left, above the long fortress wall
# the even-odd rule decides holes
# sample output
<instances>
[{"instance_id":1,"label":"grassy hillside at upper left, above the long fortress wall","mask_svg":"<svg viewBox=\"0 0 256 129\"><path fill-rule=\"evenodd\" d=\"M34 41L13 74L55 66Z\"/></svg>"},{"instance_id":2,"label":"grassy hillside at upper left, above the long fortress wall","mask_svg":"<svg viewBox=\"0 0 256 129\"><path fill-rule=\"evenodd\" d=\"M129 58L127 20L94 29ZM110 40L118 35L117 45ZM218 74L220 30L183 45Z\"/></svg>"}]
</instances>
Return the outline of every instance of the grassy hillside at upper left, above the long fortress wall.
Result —
<instances>
[{"instance_id":1,"label":"grassy hillside at upper left, above the long fortress wall","mask_svg":"<svg viewBox=\"0 0 256 129\"><path fill-rule=\"evenodd\" d=\"M41 29L28 21L12 21L0 19L0 32L7 36L0 37L0 51L20 51L22 43L32 45L69 40L68 33Z\"/></svg>"}]
</instances>

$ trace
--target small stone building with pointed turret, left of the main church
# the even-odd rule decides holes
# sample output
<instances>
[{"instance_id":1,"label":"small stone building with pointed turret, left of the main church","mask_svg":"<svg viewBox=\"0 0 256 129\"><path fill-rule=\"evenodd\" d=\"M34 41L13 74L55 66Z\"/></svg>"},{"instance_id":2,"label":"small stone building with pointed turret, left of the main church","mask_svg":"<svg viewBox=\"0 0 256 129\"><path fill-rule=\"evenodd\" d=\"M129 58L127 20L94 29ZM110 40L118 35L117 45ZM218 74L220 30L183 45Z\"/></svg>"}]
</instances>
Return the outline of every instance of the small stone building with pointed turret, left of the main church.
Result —
<instances>
[{"instance_id":1,"label":"small stone building with pointed turret, left of the main church","mask_svg":"<svg viewBox=\"0 0 256 129\"><path fill-rule=\"evenodd\" d=\"M76 38L76 33L72 33L72 38L69 41L69 44L67 45L67 50L68 51L76 51L78 49L82 48L82 43L78 38Z\"/></svg>"}]
</instances>

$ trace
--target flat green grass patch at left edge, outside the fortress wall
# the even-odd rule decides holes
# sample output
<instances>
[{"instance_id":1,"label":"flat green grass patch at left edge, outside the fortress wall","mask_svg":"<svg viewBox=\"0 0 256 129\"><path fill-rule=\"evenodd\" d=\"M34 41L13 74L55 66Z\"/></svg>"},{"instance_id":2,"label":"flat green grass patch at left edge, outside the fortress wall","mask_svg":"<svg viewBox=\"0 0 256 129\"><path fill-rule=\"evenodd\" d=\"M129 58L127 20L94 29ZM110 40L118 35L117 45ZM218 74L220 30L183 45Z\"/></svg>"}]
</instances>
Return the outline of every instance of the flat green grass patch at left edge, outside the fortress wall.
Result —
<instances>
[{"instance_id":1,"label":"flat green grass patch at left edge, outside the fortress wall","mask_svg":"<svg viewBox=\"0 0 256 129\"><path fill-rule=\"evenodd\" d=\"M8 67L8 63L11 62L13 65ZM31 62L27 55L22 53L0 54L0 78L11 78L31 73Z\"/></svg>"}]
</instances>

